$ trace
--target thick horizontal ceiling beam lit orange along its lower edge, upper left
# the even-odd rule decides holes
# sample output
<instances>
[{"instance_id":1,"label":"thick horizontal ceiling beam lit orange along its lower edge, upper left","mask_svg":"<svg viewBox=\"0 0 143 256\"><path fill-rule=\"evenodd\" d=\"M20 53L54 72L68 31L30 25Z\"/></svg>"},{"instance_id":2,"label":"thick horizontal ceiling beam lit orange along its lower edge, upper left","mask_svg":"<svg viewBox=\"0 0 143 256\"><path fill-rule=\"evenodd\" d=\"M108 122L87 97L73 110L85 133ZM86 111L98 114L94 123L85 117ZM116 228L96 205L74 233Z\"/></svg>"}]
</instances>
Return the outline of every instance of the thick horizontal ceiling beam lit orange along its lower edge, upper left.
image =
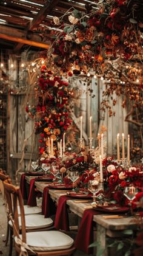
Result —
<instances>
[{"instance_id":1,"label":"thick horizontal ceiling beam lit orange along its lower edge, upper left","mask_svg":"<svg viewBox=\"0 0 143 256\"><path fill-rule=\"evenodd\" d=\"M28 44L30 46L35 46L43 49L48 49L49 44L42 43L40 37L35 34L30 34L30 38L27 39L25 32L19 29L8 28L7 26L0 25L0 38L13 41L21 44Z\"/></svg>"}]
</instances>

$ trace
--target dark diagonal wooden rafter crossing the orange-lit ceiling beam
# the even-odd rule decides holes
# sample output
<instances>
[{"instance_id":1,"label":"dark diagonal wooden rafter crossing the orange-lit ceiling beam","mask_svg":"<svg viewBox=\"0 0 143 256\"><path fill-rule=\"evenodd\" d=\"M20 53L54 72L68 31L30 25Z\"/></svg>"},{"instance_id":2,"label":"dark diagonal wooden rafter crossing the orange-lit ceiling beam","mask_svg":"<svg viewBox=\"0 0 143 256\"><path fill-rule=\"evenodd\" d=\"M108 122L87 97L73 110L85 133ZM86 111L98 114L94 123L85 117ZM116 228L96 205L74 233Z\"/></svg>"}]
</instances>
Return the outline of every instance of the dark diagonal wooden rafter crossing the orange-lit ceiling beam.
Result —
<instances>
[{"instance_id":1,"label":"dark diagonal wooden rafter crossing the orange-lit ceiling beam","mask_svg":"<svg viewBox=\"0 0 143 256\"><path fill-rule=\"evenodd\" d=\"M35 16L33 21L31 21L28 26L26 27L25 31L33 30L35 27L38 27L39 24L45 19L45 17L50 13L53 8L58 4L59 0L52 0L50 2L45 3L44 7L38 12L38 14ZM14 49L14 52L18 52L22 46L24 46L23 43L18 43Z\"/></svg>"}]
</instances>

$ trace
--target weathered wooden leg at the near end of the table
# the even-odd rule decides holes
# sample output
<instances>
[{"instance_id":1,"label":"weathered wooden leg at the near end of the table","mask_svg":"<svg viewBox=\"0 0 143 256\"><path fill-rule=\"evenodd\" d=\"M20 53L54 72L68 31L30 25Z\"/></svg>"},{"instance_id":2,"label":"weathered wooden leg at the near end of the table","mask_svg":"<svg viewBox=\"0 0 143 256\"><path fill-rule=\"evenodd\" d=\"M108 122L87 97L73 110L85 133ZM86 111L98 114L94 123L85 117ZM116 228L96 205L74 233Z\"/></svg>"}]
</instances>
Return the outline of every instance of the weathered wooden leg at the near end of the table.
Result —
<instances>
[{"instance_id":1,"label":"weathered wooden leg at the near end of the table","mask_svg":"<svg viewBox=\"0 0 143 256\"><path fill-rule=\"evenodd\" d=\"M96 256L107 256L107 248L106 248L106 229L96 224L97 227L97 241L99 245L97 246L97 255Z\"/></svg>"}]
</instances>

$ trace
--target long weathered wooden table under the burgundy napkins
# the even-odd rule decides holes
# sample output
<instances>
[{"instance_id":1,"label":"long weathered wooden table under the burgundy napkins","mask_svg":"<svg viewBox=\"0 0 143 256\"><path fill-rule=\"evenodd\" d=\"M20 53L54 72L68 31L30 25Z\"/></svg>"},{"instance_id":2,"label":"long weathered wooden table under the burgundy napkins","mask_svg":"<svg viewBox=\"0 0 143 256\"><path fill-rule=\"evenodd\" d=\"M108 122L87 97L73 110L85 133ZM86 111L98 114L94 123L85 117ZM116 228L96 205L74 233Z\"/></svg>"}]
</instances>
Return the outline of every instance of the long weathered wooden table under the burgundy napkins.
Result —
<instances>
[{"instance_id":1,"label":"long weathered wooden table under the burgundy napkins","mask_svg":"<svg viewBox=\"0 0 143 256\"><path fill-rule=\"evenodd\" d=\"M21 175L22 173L20 173ZM30 184L30 180L35 177L33 176L26 176L25 179L28 184ZM43 192L44 187L47 186L46 182L35 182L36 189L39 190L39 192ZM58 203L58 199L61 195L66 195L66 192L61 192L61 190L50 190L49 194L51 198ZM80 218L82 218L84 210L91 207L90 202L75 202L76 200L67 200L67 204L69 206L69 209L71 212L78 215ZM93 221L96 222L97 227L97 241L100 244L100 249L104 251L102 256L107 256L107 250L106 250L106 237L121 237L122 231L126 229L136 229L136 222L133 217L131 216L125 216L125 218L119 218L119 219L108 219L105 220L103 216L108 215L106 213L95 215L93 216ZM99 248L97 248L99 249Z\"/></svg>"}]
</instances>

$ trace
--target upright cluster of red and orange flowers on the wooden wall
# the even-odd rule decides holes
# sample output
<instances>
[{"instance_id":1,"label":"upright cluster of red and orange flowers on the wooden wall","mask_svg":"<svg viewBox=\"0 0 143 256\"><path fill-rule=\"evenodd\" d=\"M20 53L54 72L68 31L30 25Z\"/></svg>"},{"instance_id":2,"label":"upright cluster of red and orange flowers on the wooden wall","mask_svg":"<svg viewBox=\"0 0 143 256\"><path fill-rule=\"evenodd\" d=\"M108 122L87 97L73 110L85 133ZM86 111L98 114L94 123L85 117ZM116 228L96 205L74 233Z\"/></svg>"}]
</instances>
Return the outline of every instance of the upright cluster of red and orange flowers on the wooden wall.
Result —
<instances>
[{"instance_id":1,"label":"upright cluster of red and orange flowers on the wooden wall","mask_svg":"<svg viewBox=\"0 0 143 256\"><path fill-rule=\"evenodd\" d=\"M38 85L35 85L36 106L27 106L26 111L30 117L35 117L35 133L40 134L40 153L44 153L49 146L49 140L56 143L62 138L72 120L69 117L71 92L68 82L59 75L41 68Z\"/></svg>"}]
</instances>

